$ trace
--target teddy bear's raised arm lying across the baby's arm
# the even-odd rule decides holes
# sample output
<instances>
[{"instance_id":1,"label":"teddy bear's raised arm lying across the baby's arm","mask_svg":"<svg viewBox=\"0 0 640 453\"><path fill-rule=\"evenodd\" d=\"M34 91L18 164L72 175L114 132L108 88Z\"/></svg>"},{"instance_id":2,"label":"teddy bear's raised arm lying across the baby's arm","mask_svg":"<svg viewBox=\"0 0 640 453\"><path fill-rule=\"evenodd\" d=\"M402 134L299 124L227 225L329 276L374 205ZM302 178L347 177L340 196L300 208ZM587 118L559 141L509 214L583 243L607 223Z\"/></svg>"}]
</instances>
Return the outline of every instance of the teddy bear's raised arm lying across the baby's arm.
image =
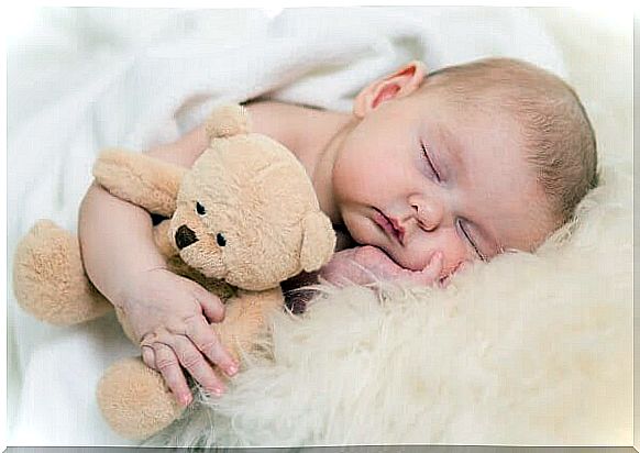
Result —
<instances>
[{"instance_id":1,"label":"teddy bear's raised arm lying across the baby's arm","mask_svg":"<svg viewBox=\"0 0 640 453\"><path fill-rule=\"evenodd\" d=\"M183 176L177 165L122 150L103 151L93 165L96 181L111 195L150 212L172 217Z\"/></svg>"}]
</instances>

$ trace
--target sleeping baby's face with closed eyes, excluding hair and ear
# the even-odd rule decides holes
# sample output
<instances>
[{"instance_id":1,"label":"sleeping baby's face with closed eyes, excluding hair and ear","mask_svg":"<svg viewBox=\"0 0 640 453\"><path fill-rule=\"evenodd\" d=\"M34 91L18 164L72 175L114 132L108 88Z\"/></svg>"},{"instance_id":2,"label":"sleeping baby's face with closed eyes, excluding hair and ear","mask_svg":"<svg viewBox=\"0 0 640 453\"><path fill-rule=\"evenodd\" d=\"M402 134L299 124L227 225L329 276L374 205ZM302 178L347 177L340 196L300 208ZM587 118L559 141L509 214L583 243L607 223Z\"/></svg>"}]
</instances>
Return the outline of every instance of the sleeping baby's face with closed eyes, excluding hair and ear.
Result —
<instances>
[{"instance_id":1,"label":"sleeping baby's face with closed eyes, excluding hair and ear","mask_svg":"<svg viewBox=\"0 0 640 453\"><path fill-rule=\"evenodd\" d=\"M494 113L490 113L494 111ZM529 251L552 230L515 119L426 91L383 102L338 151L332 183L360 244L443 273L508 248Z\"/></svg>"}]
</instances>

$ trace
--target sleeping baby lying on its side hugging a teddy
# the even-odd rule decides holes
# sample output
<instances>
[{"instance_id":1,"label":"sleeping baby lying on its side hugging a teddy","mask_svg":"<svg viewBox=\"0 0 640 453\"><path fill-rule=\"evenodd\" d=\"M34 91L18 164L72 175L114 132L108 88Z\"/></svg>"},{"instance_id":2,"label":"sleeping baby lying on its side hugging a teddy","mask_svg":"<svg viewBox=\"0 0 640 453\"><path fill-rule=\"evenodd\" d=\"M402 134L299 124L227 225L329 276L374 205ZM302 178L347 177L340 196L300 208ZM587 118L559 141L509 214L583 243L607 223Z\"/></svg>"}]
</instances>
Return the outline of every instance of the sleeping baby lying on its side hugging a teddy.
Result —
<instances>
[{"instance_id":1,"label":"sleeping baby lying on its side hugging a teddy","mask_svg":"<svg viewBox=\"0 0 640 453\"><path fill-rule=\"evenodd\" d=\"M475 261L534 251L597 185L594 131L577 96L520 60L431 74L411 62L365 87L352 113L246 108L255 132L299 158L335 226L334 257L320 270L331 283L445 285ZM207 145L199 126L148 154L189 167ZM208 329L224 306L167 270L151 226L146 211L93 185L80 208L82 258L95 286L128 313L146 365L188 405L184 369L220 395L210 364L229 376L239 364Z\"/></svg>"}]
</instances>

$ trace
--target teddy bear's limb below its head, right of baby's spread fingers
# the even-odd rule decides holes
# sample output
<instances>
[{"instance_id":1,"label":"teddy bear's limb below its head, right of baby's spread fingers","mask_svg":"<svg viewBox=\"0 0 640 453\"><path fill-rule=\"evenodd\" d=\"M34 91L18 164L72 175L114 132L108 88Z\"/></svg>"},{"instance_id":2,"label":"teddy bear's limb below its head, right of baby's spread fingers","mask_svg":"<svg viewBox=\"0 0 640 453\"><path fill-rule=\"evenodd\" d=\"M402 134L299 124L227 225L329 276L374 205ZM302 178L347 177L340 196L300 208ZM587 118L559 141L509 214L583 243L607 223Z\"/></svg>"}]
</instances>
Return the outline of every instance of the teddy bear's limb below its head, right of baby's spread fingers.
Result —
<instances>
[{"instance_id":1,"label":"teddy bear's limb below its head, right of baby's spread fingers","mask_svg":"<svg viewBox=\"0 0 640 453\"><path fill-rule=\"evenodd\" d=\"M239 291L227 302L224 321L211 324L220 335L220 342L240 358L242 352L255 346L256 338L267 330L266 316L284 305L279 287L266 291Z\"/></svg>"}]
</instances>

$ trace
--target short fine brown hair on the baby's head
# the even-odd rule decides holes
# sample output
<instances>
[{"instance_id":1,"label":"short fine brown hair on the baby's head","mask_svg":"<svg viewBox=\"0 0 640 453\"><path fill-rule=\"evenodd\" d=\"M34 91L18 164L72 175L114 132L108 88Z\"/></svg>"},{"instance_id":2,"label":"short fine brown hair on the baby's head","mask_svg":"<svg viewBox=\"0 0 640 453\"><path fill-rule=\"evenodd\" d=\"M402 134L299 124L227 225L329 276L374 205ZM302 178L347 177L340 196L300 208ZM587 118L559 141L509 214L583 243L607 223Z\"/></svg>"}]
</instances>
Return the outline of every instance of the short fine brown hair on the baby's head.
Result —
<instances>
[{"instance_id":1,"label":"short fine brown hair on the baby's head","mask_svg":"<svg viewBox=\"0 0 640 453\"><path fill-rule=\"evenodd\" d=\"M437 86L462 102L514 114L552 218L558 225L571 220L578 202L598 185L595 133L575 91L560 77L514 58L439 69L422 88Z\"/></svg>"}]
</instances>

